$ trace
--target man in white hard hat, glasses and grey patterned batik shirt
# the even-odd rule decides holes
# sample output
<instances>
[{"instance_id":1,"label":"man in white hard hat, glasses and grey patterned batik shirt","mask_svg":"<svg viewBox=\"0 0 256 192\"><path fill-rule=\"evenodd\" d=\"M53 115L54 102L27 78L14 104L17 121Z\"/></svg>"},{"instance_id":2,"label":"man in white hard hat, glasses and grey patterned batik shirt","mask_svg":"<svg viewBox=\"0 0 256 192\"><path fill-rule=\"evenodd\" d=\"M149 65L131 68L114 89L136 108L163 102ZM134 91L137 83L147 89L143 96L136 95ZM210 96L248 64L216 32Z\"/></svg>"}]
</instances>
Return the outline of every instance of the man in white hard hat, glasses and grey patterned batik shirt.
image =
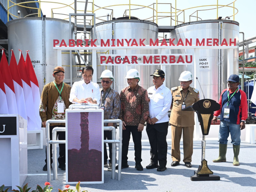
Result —
<instances>
[{"instance_id":1,"label":"man in white hard hat, glasses and grey patterned batik shirt","mask_svg":"<svg viewBox=\"0 0 256 192\"><path fill-rule=\"evenodd\" d=\"M100 88L100 108L104 110L104 119L118 119L120 114L119 93L111 88L113 74L110 70L104 70L100 76L102 88ZM114 126L116 123L104 123L104 126ZM112 132L104 131L104 140L112 140ZM108 171L112 170L112 143L108 144L109 164L107 146L104 143L104 166L108 166ZM114 159L115 161L116 159Z\"/></svg>"}]
</instances>

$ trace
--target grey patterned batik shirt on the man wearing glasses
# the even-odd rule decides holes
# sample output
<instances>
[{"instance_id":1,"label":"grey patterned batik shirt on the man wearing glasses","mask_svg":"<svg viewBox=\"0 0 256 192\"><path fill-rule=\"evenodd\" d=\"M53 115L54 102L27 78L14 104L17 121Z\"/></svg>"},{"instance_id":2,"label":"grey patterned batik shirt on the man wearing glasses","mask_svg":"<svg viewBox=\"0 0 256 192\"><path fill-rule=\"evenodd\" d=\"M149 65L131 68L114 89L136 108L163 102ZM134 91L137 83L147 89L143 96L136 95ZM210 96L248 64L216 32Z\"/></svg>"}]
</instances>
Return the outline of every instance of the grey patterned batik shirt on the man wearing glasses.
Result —
<instances>
[{"instance_id":1,"label":"grey patterned batik shirt on the man wearing glasses","mask_svg":"<svg viewBox=\"0 0 256 192\"><path fill-rule=\"evenodd\" d=\"M104 101L104 119L118 119L120 114L120 97L119 93L111 88L108 88L105 92L103 88L100 88L100 106L102 106L102 98L106 98ZM104 126L108 126L104 123ZM116 123L114 123L116 128Z\"/></svg>"}]
</instances>

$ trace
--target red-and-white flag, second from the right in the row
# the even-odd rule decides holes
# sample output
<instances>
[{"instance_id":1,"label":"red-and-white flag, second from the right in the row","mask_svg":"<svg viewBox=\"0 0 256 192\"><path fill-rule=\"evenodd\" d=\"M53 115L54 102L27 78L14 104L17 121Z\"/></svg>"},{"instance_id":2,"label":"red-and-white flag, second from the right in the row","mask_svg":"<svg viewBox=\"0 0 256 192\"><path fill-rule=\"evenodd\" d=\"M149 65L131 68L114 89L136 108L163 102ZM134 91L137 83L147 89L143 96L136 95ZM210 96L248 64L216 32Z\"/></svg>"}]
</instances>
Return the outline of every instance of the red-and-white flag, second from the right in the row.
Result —
<instances>
[{"instance_id":1,"label":"red-and-white flag, second from the right in the row","mask_svg":"<svg viewBox=\"0 0 256 192\"><path fill-rule=\"evenodd\" d=\"M25 67L25 61L22 54L20 56L20 61L18 64L18 70L20 72L20 77L22 80L22 86L23 86L23 91L25 96L26 112L28 117L28 131L37 130L35 107L34 107L34 100L33 100L33 95L31 90L31 84L30 84L28 73Z\"/></svg>"}]
</instances>

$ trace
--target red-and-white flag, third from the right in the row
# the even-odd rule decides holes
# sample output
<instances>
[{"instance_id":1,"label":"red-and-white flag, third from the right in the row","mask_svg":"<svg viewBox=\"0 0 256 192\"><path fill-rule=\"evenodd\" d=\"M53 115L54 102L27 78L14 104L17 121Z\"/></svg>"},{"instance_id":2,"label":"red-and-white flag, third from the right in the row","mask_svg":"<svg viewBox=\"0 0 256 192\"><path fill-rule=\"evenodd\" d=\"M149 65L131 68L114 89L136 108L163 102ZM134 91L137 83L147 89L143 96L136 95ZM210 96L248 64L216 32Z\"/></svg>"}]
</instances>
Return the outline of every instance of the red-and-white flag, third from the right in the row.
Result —
<instances>
[{"instance_id":1,"label":"red-and-white flag, third from the right in the row","mask_svg":"<svg viewBox=\"0 0 256 192\"><path fill-rule=\"evenodd\" d=\"M20 73L18 70L16 58L14 56L13 51L12 51L12 57L11 57L9 68L10 70L12 70L12 80L14 84L18 114L27 120L27 112L26 112L26 104L25 104L22 80L20 78Z\"/></svg>"}]
</instances>

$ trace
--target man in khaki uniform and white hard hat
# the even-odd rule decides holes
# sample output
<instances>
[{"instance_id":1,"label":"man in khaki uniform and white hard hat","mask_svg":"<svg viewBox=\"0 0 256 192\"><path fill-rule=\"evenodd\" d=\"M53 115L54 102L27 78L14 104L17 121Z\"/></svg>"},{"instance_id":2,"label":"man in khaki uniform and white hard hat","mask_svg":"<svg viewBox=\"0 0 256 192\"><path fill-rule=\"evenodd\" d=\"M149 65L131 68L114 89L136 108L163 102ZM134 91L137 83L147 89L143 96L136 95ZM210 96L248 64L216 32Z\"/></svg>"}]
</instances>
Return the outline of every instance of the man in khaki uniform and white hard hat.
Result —
<instances>
[{"instance_id":1,"label":"man in khaki uniform and white hard hat","mask_svg":"<svg viewBox=\"0 0 256 192\"><path fill-rule=\"evenodd\" d=\"M172 130L172 164L180 164L180 139L183 132L183 151L185 166L190 168L193 154L194 112L182 111L199 100L199 91L190 87L193 77L189 71L180 74L180 86L171 89L172 106L170 124Z\"/></svg>"}]
</instances>

